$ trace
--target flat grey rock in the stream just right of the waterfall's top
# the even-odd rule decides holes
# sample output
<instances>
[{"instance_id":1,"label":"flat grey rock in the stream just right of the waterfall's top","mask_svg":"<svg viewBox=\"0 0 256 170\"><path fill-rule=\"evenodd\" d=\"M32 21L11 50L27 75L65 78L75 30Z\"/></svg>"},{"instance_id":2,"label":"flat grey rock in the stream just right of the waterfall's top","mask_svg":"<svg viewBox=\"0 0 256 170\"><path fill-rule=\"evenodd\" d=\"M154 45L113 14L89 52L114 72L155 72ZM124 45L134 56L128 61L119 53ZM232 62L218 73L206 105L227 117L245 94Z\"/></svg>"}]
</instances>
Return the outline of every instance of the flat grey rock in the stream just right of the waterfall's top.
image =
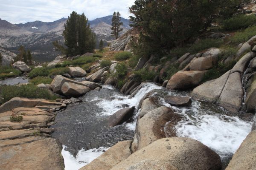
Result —
<instances>
[{"instance_id":1,"label":"flat grey rock in the stream just right of the waterfall's top","mask_svg":"<svg viewBox=\"0 0 256 170\"><path fill-rule=\"evenodd\" d=\"M166 96L165 102L170 105L189 106L192 100L189 97L183 96Z\"/></svg>"}]
</instances>

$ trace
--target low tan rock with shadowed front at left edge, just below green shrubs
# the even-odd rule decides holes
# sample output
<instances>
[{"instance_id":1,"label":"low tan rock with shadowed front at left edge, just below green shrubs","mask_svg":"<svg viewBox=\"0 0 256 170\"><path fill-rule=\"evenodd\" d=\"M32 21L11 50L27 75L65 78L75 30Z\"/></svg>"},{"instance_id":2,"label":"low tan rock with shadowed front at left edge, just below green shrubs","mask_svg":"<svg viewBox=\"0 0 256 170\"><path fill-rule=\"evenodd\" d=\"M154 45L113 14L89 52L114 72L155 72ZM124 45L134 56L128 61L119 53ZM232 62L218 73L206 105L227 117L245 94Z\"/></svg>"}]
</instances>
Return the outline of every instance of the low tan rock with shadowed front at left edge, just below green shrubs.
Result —
<instances>
[{"instance_id":1,"label":"low tan rock with shadowed front at left edge, just below green shrubs","mask_svg":"<svg viewBox=\"0 0 256 170\"><path fill-rule=\"evenodd\" d=\"M0 106L0 113L12 111L12 109L14 108L34 108L36 105L38 105L39 102L44 100L45 99L28 99L14 97Z\"/></svg>"}]
</instances>

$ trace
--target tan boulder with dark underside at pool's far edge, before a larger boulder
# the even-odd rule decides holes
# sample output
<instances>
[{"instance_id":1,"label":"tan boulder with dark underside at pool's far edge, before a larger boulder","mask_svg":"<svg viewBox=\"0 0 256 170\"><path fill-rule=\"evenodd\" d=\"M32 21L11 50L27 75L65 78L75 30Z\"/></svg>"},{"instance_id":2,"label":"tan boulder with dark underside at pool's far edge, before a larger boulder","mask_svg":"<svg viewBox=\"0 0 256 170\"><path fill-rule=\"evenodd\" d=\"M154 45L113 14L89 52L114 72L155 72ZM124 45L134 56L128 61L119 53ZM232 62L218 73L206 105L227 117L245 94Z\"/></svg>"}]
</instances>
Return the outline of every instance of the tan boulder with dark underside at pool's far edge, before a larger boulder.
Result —
<instances>
[{"instance_id":1,"label":"tan boulder with dark underside at pool's far edge, before a larger boulder","mask_svg":"<svg viewBox=\"0 0 256 170\"><path fill-rule=\"evenodd\" d=\"M86 94L89 91L90 88L84 85L74 84L72 82L64 82L64 84L61 86L61 92L65 96L78 97Z\"/></svg>"}]
</instances>

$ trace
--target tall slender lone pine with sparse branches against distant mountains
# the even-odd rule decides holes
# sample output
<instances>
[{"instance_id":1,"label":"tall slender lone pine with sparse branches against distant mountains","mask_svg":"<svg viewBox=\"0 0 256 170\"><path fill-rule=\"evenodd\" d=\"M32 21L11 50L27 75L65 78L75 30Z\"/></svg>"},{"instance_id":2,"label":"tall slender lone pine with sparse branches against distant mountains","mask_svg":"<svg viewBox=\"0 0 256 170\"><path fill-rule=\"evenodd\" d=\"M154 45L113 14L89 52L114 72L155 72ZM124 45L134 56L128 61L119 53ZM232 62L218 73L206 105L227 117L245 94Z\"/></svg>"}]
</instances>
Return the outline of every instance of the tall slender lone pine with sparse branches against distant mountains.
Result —
<instances>
[{"instance_id":1,"label":"tall slender lone pine with sparse branches against distant mountains","mask_svg":"<svg viewBox=\"0 0 256 170\"><path fill-rule=\"evenodd\" d=\"M116 39L119 38L119 33L123 30L121 26L123 23L121 22L121 14L119 12L114 12L112 16L112 23L111 23L111 35Z\"/></svg>"}]
</instances>

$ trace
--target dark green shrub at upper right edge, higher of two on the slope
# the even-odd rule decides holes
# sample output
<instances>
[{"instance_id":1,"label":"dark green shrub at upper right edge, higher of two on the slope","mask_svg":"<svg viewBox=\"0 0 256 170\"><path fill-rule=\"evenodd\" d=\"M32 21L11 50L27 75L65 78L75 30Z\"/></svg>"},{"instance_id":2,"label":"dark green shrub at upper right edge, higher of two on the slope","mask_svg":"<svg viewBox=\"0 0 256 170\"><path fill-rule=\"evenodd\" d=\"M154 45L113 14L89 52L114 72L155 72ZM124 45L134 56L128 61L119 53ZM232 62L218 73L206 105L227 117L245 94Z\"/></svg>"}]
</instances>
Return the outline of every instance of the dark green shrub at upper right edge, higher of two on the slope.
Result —
<instances>
[{"instance_id":1,"label":"dark green shrub at upper right edge, higher of two on the slope","mask_svg":"<svg viewBox=\"0 0 256 170\"><path fill-rule=\"evenodd\" d=\"M236 15L230 19L224 20L222 24L225 30L247 28L248 26L256 24L256 16L246 14Z\"/></svg>"}]
</instances>

